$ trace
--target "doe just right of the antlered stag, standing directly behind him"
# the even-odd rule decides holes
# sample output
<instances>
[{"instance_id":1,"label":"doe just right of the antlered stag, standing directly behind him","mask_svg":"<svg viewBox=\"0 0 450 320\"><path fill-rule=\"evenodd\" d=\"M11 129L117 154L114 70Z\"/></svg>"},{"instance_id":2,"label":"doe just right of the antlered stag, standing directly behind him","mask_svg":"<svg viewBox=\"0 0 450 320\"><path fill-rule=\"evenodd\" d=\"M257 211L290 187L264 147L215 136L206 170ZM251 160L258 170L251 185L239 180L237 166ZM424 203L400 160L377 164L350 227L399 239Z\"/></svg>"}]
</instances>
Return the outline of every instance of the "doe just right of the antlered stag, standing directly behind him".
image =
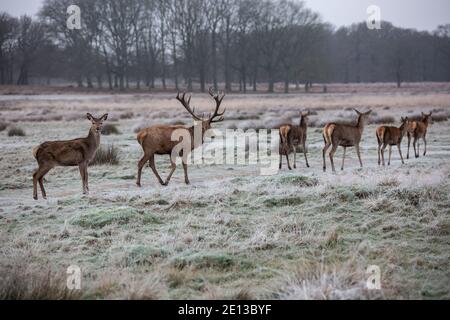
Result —
<instances>
[{"instance_id":1,"label":"doe just right of the antlered stag, standing directly behind him","mask_svg":"<svg viewBox=\"0 0 450 320\"><path fill-rule=\"evenodd\" d=\"M283 155L286 156L287 164L289 170L292 170L291 165L289 163L289 153L294 152L294 168L296 166L296 154L297 147L302 145L303 154L305 155L306 166L309 168L308 157L306 156L306 132L308 130L308 116L310 112L301 112L300 113L300 125L283 125L280 127L280 169L282 165Z\"/></svg>"}]
</instances>

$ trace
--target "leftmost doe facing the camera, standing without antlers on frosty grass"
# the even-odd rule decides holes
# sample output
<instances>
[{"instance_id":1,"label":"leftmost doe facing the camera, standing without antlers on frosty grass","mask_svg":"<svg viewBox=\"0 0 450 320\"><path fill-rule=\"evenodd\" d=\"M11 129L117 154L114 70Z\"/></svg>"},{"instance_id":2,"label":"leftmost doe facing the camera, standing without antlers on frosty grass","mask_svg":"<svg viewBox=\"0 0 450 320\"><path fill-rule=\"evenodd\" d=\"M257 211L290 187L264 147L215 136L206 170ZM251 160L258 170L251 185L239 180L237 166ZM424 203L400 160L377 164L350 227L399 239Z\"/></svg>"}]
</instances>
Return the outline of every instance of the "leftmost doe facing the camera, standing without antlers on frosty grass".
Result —
<instances>
[{"instance_id":1,"label":"leftmost doe facing the camera, standing without antlers on frosty grass","mask_svg":"<svg viewBox=\"0 0 450 320\"><path fill-rule=\"evenodd\" d=\"M100 118L95 118L88 113L87 118L91 121L92 126L86 138L67 141L47 141L33 149L33 156L39 165L39 168L33 174L33 198L35 200L38 198L38 182L41 188L42 198L47 198L43 184L44 176L56 166L78 166L83 185L83 194L89 192L87 167L100 146L100 133L102 131L103 121L108 118L108 114L106 113Z\"/></svg>"}]
</instances>

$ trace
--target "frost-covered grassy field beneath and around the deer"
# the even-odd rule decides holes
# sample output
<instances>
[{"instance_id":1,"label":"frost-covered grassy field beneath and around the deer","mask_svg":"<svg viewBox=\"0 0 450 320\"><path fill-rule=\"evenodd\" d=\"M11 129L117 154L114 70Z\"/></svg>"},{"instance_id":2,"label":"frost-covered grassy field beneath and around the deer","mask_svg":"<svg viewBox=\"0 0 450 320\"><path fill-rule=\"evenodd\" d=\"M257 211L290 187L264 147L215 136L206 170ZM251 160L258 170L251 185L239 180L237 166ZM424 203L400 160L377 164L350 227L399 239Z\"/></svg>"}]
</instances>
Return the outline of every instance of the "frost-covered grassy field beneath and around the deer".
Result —
<instances>
[{"instance_id":1,"label":"frost-covered grassy field beneath and around the deer","mask_svg":"<svg viewBox=\"0 0 450 320\"><path fill-rule=\"evenodd\" d=\"M194 94L192 103L212 108L207 95ZM302 154L296 170L284 162L268 177L256 166L191 165L186 186L179 166L162 187L145 167L139 189L142 151L134 131L190 124L173 94L2 96L1 122L26 136L0 132L0 297L450 298L448 121L429 129L425 158L401 165L393 148L386 168L377 165L371 124L361 144L364 169L349 150L346 170L337 174L322 172L320 131L328 120L353 119L351 107L371 108L376 121L393 116L396 125L421 111L445 118L448 90L229 95L223 105L227 121L218 129L272 128L298 122L302 109L316 111L311 168ZM89 168L89 196L81 194L78 168L56 168L46 176L48 200L34 201L32 148L87 135L86 112L109 112L120 134L103 136L102 145L119 149L119 165ZM403 153L406 159L406 141ZM341 156L339 149L337 168ZM168 156L157 157L157 167L165 177ZM69 265L81 268L81 291L64 290ZM381 291L366 288L369 265L380 267Z\"/></svg>"}]
</instances>

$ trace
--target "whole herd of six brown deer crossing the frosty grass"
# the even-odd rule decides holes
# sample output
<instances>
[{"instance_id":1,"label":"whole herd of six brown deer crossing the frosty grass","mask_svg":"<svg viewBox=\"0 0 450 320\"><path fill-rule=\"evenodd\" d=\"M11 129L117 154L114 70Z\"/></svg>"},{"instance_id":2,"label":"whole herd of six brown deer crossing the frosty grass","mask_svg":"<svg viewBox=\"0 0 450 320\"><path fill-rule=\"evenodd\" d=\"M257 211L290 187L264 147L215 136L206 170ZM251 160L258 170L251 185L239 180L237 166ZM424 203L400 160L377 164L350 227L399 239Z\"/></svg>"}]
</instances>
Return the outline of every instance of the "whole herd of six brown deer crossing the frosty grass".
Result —
<instances>
[{"instance_id":1,"label":"whole herd of six brown deer crossing the frosty grass","mask_svg":"<svg viewBox=\"0 0 450 320\"><path fill-rule=\"evenodd\" d=\"M177 100L183 105L187 112L196 121L201 122L201 135L203 143L203 137L207 130L211 128L212 123L221 122L224 120L225 110L219 112L220 105L222 103L225 94L223 92L214 92L212 89L209 90L209 94L215 101L215 110L212 115L208 118L200 117L196 115L194 109L190 106L191 98L186 98L186 93L177 95ZM331 167L333 172L335 172L334 167L334 154L339 146L344 148L344 156L342 159L342 167L344 170L345 153L348 147L355 147L360 165L362 167L361 154L359 149L359 144L361 142L361 136L363 134L364 126L367 123L371 111L361 113L356 110L358 114L358 121L355 125L348 124L338 124L338 123L328 123L323 129L323 140L325 146L323 148L323 170L326 171L326 161L325 156L327 150L331 147L329 153ZM302 146L303 154L305 156L306 166L309 168L307 151L306 151L306 139L307 139L307 129L308 129L308 112L302 112L300 117L300 125L283 125L280 127L280 163L279 168L282 167L282 156L286 156L287 165L289 170L292 170L289 163L289 154L294 153L294 168L296 168L296 151L298 146ZM419 139L423 139L425 143L425 151L423 155L427 152L427 128L431 123L431 115L422 113L421 121L410 121L408 118L402 118L402 124L400 128L382 126L376 130L376 136L378 140L378 164L385 165L384 152L386 147L389 146L389 160L388 165L391 163L391 148L392 146L397 146L400 158L403 161L403 156L401 152L400 144L402 142L405 134L408 136L408 154L409 159L409 149L411 144L411 139L413 139L414 154L415 157L419 157ZM44 142L41 145L33 149L33 156L38 162L39 168L33 174L33 198L37 200L37 184L41 188L42 197L46 199L46 193L44 189L44 176L56 166L78 166L80 169L81 181L83 186L83 194L89 192L88 184L88 171L87 167L91 160L94 158L95 153L100 146L100 134L102 131L103 122L108 118L108 114L104 114L100 118L92 116L90 113L87 114L87 119L91 121L92 125L89 129L88 136L86 138L78 138L74 140L67 141L49 141ZM174 147L180 141L172 141L172 133L177 129L186 129L192 139L191 150L193 150L197 145L194 143L194 126L186 128L181 125L156 125L149 128L141 130L137 134L137 140L141 145L144 156L138 163L138 173L136 184L141 186L141 174L142 168L148 162L153 173L158 179L161 185L167 185L172 177L175 169L176 163L172 159L171 154ZM158 174L155 166L155 154L157 155L169 155L171 162L171 171L165 181L163 181ZM180 151L180 157L186 157L183 152ZM187 175L187 163L183 161L184 169L184 179L186 184L189 184L189 178Z\"/></svg>"}]
</instances>

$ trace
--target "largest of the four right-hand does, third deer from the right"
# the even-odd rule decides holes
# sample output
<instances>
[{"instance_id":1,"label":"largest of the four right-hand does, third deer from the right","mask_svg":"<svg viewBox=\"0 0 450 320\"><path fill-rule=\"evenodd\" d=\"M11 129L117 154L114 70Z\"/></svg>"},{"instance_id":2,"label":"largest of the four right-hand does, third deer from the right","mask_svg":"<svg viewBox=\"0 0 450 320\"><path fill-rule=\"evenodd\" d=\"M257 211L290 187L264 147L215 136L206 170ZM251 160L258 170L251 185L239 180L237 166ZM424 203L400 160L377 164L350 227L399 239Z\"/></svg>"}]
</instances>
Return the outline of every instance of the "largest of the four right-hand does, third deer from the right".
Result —
<instances>
[{"instance_id":1,"label":"largest of the four right-hand does, third deer from the right","mask_svg":"<svg viewBox=\"0 0 450 320\"><path fill-rule=\"evenodd\" d=\"M342 167L341 170L344 170L344 162L345 162L345 152L348 147L355 147L356 153L358 154L359 163L361 168L363 166L361 160L361 154L359 150L359 143L361 142L361 136L364 131L364 127L369 118L372 110L369 110L365 113L361 113L356 109L353 109L358 114L358 122L356 125L347 125L347 124L337 124L337 123L328 123L323 128L323 140L325 142L325 147L323 148L323 171L327 170L326 162L325 162L325 154L328 148L332 145L332 149L330 151L330 161L333 172L336 172L334 168L333 157L336 153L338 146L344 147L344 156L342 158Z\"/></svg>"}]
</instances>

